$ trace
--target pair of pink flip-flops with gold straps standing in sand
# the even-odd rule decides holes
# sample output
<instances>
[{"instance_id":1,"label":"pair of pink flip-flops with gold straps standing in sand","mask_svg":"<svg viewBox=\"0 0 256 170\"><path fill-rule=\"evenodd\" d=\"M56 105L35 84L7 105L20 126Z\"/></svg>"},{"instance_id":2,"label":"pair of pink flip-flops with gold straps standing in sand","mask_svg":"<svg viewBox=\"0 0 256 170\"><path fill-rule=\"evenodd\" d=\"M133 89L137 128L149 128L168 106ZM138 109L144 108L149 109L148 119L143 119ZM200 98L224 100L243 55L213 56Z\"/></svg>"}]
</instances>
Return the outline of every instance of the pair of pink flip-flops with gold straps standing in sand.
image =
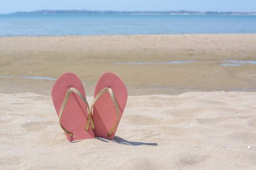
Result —
<instances>
[{"instance_id":1,"label":"pair of pink flip-flops with gold straps standing in sand","mask_svg":"<svg viewBox=\"0 0 256 170\"><path fill-rule=\"evenodd\" d=\"M60 76L52 91L60 127L68 141L95 137L114 139L127 96L125 84L114 73L100 77L91 106L87 103L83 83L74 73Z\"/></svg>"}]
</instances>

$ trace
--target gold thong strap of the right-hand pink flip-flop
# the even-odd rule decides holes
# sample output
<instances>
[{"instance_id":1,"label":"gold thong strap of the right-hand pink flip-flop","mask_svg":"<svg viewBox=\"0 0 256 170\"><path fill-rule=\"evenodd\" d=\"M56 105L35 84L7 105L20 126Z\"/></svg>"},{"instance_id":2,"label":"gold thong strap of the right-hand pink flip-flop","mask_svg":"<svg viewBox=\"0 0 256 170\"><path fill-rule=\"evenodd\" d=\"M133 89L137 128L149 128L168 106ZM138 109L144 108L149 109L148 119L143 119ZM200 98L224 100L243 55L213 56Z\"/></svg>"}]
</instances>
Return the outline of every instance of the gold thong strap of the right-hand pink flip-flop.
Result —
<instances>
[{"instance_id":1,"label":"gold thong strap of the right-hand pink flip-flop","mask_svg":"<svg viewBox=\"0 0 256 170\"><path fill-rule=\"evenodd\" d=\"M109 136L113 133L113 131L116 129L116 127L117 127L118 120L119 120L119 114L120 114L120 109L119 109L119 106L118 106L116 97L115 97L115 95L114 95L113 90L112 90L110 87L107 87L107 88L102 89L102 90L96 95L95 99L93 100L93 103L91 104L91 109L90 109L90 112L89 112L89 117L90 117L90 119L91 119L91 126L92 126L93 130L95 131L95 126L94 126L94 124L93 124L93 116L92 116L92 115L93 115L93 105L95 105L96 101L98 101L98 99L100 99L100 97L101 97L102 95L104 95L104 93L106 93L106 92L110 93L110 97L111 97L111 99L112 99L112 101L113 101L113 103L114 103L114 107L115 107L115 109L116 109L116 115L117 115L116 124L114 124L114 126L111 127L110 131L108 131L107 136L109 137Z\"/></svg>"}]
</instances>

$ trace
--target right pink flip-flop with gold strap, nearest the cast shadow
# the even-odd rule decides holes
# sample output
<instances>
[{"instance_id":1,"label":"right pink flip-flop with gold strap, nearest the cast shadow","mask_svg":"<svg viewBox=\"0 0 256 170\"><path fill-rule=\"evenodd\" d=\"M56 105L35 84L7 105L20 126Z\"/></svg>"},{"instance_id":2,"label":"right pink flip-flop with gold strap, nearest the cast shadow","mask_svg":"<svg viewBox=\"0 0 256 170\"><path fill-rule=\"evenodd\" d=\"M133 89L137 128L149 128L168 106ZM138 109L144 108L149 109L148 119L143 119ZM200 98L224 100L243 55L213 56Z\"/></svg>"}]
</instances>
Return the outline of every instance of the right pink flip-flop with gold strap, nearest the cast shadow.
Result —
<instances>
[{"instance_id":1,"label":"right pink flip-flop with gold strap, nearest the cast shadow","mask_svg":"<svg viewBox=\"0 0 256 170\"><path fill-rule=\"evenodd\" d=\"M90 110L96 137L114 138L127 97L127 88L117 75L105 73L100 77Z\"/></svg>"}]
</instances>

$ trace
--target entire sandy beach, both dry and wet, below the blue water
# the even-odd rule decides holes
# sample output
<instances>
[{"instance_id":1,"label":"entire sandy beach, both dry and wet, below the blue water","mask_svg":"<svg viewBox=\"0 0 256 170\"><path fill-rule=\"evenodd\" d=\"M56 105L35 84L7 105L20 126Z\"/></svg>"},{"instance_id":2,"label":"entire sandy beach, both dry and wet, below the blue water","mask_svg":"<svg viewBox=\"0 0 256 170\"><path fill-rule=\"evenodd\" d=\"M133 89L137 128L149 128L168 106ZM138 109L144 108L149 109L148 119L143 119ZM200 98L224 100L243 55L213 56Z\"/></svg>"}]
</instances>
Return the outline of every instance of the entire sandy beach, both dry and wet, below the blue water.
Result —
<instances>
[{"instance_id":1,"label":"entire sandy beach, both dry and wet, below the blue water","mask_svg":"<svg viewBox=\"0 0 256 170\"><path fill-rule=\"evenodd\" d=\"M0 37L0 169L255 169L256 35ZM66 140L51 99L76 73L89 103L114 72L114 141Z\"/></svg>"}]
</instances>

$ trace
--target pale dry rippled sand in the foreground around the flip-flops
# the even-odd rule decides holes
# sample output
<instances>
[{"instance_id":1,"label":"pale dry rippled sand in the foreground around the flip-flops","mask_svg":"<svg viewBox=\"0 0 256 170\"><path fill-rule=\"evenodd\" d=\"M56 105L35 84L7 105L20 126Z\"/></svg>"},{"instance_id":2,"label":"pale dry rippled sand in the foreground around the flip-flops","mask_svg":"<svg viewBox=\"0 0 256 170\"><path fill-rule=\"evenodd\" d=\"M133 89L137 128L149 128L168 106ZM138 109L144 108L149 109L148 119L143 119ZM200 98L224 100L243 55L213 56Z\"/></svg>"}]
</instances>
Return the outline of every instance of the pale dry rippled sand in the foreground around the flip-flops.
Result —
<instances>
[{"instance_id":1,"label":"pale dry rippled sand in the foreground around the flip-flops","mask_svg":"<svg viewBox=\"0 0 256 170\"><path fill-rule=\"evenodd\" d=\"M0 169L256 167L256 93L130 96L117 142L68 142L51 97L1 94L0 107Z\"/></svg>"}]
</instances>

